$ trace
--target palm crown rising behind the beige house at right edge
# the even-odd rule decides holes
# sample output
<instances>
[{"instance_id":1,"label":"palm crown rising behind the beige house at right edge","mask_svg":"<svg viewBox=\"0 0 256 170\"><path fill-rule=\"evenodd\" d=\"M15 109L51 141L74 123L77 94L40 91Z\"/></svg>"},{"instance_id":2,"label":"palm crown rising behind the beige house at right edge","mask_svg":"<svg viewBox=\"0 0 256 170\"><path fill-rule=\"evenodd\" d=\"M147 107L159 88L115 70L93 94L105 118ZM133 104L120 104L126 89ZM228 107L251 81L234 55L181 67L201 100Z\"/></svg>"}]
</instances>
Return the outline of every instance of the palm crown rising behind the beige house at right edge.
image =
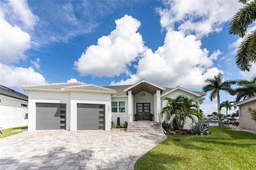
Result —
<instances>
[{"instance_id":1,"label":"palm crown rising behind the beige house at right edge","mask_svg":"<svg viewBox=\"0 0 256 170\"><path fill-rule=\"evenodd\" d=\"M250 81L248 80L238 80L237 83L238 88L236 91L236 102L239 102L241 99L247 99L249 97L253 97L256 95L256 74L250 77Z\"/></svg>"}]
</instances>

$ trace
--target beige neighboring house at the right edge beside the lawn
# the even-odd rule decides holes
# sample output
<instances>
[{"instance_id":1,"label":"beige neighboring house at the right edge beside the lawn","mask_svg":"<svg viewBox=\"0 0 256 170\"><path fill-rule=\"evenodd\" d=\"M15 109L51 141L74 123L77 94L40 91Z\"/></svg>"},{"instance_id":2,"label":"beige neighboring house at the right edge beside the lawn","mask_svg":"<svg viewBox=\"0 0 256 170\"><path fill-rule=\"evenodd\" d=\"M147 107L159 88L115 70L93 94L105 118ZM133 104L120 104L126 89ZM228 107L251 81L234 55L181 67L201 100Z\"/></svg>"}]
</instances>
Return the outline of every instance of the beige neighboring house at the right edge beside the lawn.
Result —
<instances>
[{"instance_id":1,"label":"beige neighboring house at the right edge beside the lawn","mask_svg":"<svg viewBox=\"0 0 256 170\"><path fill-rule=\"evenodd\" d=\"M256 96L250 97L249 99L245 99L233 105L233 107L238 107L239 109L239 127L256 130L256 122L251 119L252 116L247 111L249 106L256 109Z\"/></svg>"}]
</instances>

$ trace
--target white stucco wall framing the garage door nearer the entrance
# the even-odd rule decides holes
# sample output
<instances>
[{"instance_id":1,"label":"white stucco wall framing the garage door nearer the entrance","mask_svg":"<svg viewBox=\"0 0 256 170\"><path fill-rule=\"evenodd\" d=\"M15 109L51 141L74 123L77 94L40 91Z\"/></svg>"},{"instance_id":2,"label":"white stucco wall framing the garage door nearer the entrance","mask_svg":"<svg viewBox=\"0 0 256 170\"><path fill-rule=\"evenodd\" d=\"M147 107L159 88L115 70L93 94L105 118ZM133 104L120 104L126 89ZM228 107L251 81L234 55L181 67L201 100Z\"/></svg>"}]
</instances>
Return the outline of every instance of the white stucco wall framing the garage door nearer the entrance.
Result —
<instances>
[{"instance_id":1,"label":"white stucco wall framing the garage door nearer the entrance","mask_svg":"<svg viewBox=\"0 0 256 170\"><path fill-rule=\"evenodd\" d=\"M71 92L70 130L77 130L77 103L105 105L105 130L111 129L111 95L100 93ZM73 114L74 113L74 114Z\"/></svg>"}]
</instances>

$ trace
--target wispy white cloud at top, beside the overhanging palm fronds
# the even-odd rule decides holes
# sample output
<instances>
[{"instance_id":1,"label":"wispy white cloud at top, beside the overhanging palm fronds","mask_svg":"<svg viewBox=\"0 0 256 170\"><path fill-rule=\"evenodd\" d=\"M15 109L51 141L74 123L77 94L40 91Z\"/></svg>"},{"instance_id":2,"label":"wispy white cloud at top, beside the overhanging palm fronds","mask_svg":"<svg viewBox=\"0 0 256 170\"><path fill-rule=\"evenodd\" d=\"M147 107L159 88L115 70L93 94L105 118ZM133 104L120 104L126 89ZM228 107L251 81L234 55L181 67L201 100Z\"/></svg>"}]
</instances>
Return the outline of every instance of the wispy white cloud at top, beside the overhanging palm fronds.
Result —
<instances>
[{"instance_id":1,"label":"wispy white cloud at top, beside the overhanging palm fronds","mask_svg":"<svg viewBox=\"0 0 256 170\"><path fill-rule=\"evenodd\" d=\"M239 2L234 1L178 0L165 4L167 8L158 8L161 26L197 37L220 32L224 22L230 20L241 7Z\"/></svg>"}]
</instances>

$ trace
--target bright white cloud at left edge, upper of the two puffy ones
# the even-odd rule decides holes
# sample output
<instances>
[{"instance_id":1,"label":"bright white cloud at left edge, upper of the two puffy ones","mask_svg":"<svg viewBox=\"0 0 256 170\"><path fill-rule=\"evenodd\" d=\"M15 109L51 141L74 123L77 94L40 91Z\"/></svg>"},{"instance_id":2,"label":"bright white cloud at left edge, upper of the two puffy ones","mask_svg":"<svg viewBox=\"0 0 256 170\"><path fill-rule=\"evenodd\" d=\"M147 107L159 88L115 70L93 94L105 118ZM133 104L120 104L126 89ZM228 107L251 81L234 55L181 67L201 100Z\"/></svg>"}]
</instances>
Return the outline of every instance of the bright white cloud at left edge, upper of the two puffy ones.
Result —
<instances>
[{"instance_id":1,"label":"bright white cloud at left edge, upper of the two puffy ones","mask_svg":"<svg viewBox=\"0 0 256 170\"><path fill-rule=\"evenodd\" d=\"M2 14L0 25L1 63L18 63L20 59L26 59L24 52L30 49L30 35L18 26L11 26L2 18Z\"/></svg>"}]
</instances>

